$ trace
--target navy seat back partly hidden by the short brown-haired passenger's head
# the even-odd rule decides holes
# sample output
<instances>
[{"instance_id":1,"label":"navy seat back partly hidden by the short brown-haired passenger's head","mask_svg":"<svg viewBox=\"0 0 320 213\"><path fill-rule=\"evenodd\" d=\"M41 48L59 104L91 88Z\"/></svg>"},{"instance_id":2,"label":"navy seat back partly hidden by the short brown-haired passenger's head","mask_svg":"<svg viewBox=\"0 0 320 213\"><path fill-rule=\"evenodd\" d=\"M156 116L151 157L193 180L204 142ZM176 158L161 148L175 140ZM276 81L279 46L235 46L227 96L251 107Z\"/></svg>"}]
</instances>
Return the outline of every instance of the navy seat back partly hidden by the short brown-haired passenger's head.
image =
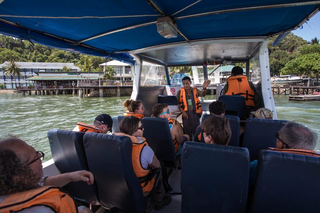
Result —
<instances>
[{"instance_id":1,"label":"navy seat back partly hidden by the short brown-haired passenger's head","mask_svg":"<svg viewBox=\"0 0 320 213\"><path fill-rule=\"evenodd\" d=\"M203 122L206 118L212 115L203 115L202 121ZM228 146L239 147L239 138L240 138L240 118L236 116L225 116L229 120L230 129L231 129L231 138L229 141ZM204 143L204 137L201 133L201 142Z\"/></svg>"}]
</instances>

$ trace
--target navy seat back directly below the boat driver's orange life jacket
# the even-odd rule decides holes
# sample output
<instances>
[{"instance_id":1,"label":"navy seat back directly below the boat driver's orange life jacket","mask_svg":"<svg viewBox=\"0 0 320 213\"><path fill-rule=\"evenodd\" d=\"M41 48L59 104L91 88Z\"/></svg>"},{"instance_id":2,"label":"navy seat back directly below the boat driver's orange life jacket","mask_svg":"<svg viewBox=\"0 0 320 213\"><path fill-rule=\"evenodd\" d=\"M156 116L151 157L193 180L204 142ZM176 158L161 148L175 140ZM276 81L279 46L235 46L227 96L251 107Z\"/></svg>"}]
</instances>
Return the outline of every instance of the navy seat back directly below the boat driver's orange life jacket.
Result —
<instances>
[{"instance_id":1,"label":"navy seat back directly below the boat driver's orange life jacket","mask_svg":"<svg viewBox=\"0 0 320 213\"><path fill-rule=\"evenodd\" d=\"M237 116L240 119L244 119L244 117L246 116L246 105L244 96L220 95L218 100L222 101L227 106L225 115Z\"/></svg>"}]
</instances>

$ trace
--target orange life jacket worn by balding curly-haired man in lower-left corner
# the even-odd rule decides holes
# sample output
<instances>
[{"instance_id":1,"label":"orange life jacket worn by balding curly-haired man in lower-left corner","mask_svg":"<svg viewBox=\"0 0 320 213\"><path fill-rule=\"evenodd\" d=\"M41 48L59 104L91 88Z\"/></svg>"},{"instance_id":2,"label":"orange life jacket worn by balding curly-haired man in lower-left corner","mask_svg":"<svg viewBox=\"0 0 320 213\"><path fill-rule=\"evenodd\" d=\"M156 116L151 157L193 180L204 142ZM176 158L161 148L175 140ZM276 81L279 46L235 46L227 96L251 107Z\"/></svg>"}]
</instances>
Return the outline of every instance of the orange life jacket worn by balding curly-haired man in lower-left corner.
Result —
<instances>
[{"instance_id":1,"label":"orange life jacket worn by balding curly-haired man in lower-left corner","mask_svg":"<svg viewBox=\"0 0 320 213\"><path fill-rule=\"evenodd\" d=\"M43 186L10 194L0 203L0 212L16 212L33 206L46 206L59 213L78 212L73 197L55 186Z\"/></svg>"}]
</instances>

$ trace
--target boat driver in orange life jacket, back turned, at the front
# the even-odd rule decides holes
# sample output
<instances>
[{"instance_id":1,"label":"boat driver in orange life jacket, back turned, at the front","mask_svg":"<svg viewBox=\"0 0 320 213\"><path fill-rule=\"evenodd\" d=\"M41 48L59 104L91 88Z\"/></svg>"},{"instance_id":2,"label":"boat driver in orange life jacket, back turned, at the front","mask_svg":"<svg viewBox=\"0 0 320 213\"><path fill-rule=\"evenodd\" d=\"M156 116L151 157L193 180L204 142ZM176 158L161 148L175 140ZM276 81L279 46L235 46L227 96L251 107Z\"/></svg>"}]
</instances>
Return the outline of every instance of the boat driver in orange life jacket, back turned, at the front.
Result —
<instances>
[{"instance_id":1,"label":"boat driver in orange life jacket, back turned, at the front","mask_svg":"<svg viewBox=\"0 0 320 213\"><path fill-rule=\"evenodd\" d=\"M259 95L253 83L248 81L248 76L243 74L243 69L240 66L232 68L231 76L227 79L222 95L244 96L247 109L252 109L259 103Z\"/></svg>"}]
</instances>

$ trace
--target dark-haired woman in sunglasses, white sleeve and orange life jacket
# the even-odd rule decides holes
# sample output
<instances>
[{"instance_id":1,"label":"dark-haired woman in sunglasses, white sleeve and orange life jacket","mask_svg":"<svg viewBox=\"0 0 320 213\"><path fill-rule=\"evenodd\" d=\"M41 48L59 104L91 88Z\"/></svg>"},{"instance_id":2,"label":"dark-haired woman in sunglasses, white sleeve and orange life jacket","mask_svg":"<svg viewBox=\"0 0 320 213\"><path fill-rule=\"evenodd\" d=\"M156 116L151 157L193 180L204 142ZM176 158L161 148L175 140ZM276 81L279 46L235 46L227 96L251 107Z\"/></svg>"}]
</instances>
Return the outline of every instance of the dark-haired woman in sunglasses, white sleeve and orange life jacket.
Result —
<instances>
[{"instance_id":1,"label":"dark-haired woman in sunglasses, white sleeve and orange life jacket","mask_svg":"<svg viewBox=\"0 0 320 213\"><path fill-rule=\"evenodd\" d=\"M132 141L132 166L137 177L140 180L144 197L148 196L153 187L161 192L155 209L161 209L164 205L171 202L171 196L165 195L164 186L162 184L161 176L157 186L154 185L155 178L148 181L148 175L151 168L159 168L160 162L155 156L153 150L148 146L148 143L143 135L143 127L139 118L129 116L123 118L119 125L121 133L114 133L115 135L124 135L131 138Z\"/></svg>"}]
</instances>

